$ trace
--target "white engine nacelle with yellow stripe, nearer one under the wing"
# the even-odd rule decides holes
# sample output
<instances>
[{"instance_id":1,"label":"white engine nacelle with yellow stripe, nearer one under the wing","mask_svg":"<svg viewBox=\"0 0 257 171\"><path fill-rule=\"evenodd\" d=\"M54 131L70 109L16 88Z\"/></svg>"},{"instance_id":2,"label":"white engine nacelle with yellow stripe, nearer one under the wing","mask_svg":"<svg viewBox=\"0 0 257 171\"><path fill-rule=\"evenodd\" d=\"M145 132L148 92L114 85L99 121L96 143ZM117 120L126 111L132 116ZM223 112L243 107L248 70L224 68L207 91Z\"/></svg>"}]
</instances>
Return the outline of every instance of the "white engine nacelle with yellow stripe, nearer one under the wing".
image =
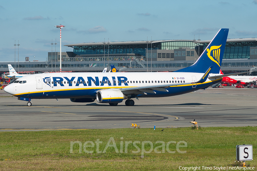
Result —
<instances>
[{"instance_id":1,"label":"white engine nacelle with yellow stripe, nearer one under the wing","mask_svg":"<svg viewBox=\"0 0 257 171\"><path fill-rule=\"evenodd\" d=\"M121 91L117 90L100 90L97 92L97 101L99 103L121 103L124 99L128 97L124 95Z\"/></svg>"}]
</instances>

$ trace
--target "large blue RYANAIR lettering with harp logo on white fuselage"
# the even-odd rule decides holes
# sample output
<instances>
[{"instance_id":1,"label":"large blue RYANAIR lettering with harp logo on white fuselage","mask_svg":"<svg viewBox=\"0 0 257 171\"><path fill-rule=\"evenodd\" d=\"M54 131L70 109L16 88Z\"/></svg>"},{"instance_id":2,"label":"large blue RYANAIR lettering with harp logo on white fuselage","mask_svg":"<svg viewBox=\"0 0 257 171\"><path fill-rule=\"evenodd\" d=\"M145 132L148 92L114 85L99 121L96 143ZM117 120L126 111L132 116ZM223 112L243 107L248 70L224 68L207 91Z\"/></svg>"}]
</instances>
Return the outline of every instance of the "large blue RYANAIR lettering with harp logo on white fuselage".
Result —
<instances>
[{"instance_id":1,"label":"large blue RYANAIR lettering with harp logo on white fuselage","mask_svg":"<svg viewBox=\"0 0 257 171\"><path fill-rule=\"evenodd\" d=\"M116 78L112 76L111 80L108 77L103 77L102 79L101 78L99 80L99 77L45 77L43 78L43 82L45 82L50 87L51 85L57 86L57 84L64 86L66 81L69 86L74 84L76 84L75 86L79 86L79 84L83 84L84 86L92 86L92 84L95 84L95 86L104 86L105 84L108 84L108 86L121 86L124 84L125 86L128 86L127 77L117 76Z\"/></svg>"}]
</instances>

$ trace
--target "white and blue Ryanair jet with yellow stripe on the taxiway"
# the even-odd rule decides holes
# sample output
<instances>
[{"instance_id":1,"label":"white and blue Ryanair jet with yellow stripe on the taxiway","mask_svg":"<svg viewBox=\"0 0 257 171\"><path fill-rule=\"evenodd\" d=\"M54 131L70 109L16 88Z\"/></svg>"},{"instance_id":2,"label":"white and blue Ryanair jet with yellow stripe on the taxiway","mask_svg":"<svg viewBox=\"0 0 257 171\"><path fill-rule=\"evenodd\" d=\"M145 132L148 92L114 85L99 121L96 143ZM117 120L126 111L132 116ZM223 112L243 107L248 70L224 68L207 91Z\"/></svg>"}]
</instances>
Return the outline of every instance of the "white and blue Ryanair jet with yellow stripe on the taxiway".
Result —
<instances>
[{"instance_id":1,"label":"white and blue Ryanair jet with yellow stripe on the taxiway","mask_svg":"<svg viewBox=\"0 0 257 171\"><path fill-rule=\"evenodd\" d=\"M19 100L69 98L72 102L109 103L116 106L123 100L133 106L133 98L166 97L205 89L221 82L220 64L228 36L222 28L198 60L175 72L100 72L44 73L18 78L4 88Z\"/></svg>"}]
</instances>

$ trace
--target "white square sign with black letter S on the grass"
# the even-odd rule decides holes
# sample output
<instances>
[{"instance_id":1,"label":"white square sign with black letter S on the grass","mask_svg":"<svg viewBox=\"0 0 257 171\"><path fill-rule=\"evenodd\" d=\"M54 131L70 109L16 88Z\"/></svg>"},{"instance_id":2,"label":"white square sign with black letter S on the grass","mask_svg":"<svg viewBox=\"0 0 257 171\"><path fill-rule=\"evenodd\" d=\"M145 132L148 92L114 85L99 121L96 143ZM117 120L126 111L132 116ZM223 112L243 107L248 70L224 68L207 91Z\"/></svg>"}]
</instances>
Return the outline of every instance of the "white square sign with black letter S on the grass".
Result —
<instances>
[{"instance_id":1,"label":"white square sign with black letter S on the grass","mask_svg":"<svg viewBox=\"0 0 257 171\"><path fill-rule=\"evenodd\" d=\"M236 160L238 161L252 160L252 145L237 145Z\"/></svg>"}]
</instances>

